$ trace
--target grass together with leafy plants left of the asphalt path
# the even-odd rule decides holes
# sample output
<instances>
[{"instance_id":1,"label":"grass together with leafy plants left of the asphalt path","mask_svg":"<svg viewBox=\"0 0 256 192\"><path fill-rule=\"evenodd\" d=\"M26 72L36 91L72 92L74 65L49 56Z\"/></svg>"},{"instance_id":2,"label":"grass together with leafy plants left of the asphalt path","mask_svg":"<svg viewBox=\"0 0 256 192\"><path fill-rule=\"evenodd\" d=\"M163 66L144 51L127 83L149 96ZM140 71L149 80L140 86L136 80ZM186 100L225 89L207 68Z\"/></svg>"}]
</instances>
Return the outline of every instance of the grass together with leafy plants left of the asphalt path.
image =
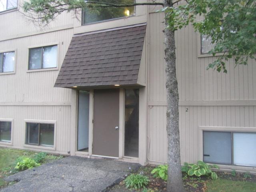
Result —
<instances>
[{"instance_id":1,"label":"grass together with leafy plants left of the asphalt path","mask_svg":"<svg viewBox=\"0 0 256 192\"><path fill-rule=\"evenodd\" d=\"M63 158L63 156L56 156L30 150L18 150L0 147L0 188L13 184L13 182L6 182L4 178L22 170L22 166L20 165L22 160L25 160L23 163L26 164L26 168L30 168L31 164L34 164L34 162L34 165L44 164L60 158ZM17 167L17 169L15 169L18 162L20 162L19 168Z\"/></svg>"}]
</instances>

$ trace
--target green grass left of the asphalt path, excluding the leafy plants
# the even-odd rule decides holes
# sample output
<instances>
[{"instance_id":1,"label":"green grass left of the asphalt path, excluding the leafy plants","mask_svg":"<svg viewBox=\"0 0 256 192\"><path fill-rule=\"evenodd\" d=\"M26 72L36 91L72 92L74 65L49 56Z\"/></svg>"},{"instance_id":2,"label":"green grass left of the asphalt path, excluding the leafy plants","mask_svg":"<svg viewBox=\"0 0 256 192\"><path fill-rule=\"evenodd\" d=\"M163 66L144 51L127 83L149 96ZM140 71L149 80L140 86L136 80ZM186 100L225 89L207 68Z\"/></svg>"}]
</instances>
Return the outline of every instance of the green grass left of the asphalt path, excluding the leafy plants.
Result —
<instances>
[{"instance_id":1,"label":"green grass left of the asphalt path, excluding the leafy plants","mask_svg":"<svg viewBox=\"0 0 256 192\"><path fill-rule=\"evenodd\" d=\"M8 185L8 183L4 181L4 177L18 172L14 169L17 164L16 160L18 157L33 158L37 153L38 152L30 150L0 148L0 188ZM62 158L62 156L48 154L43 163L48 163L60 158Z\"/></svg>"}]
</instances>

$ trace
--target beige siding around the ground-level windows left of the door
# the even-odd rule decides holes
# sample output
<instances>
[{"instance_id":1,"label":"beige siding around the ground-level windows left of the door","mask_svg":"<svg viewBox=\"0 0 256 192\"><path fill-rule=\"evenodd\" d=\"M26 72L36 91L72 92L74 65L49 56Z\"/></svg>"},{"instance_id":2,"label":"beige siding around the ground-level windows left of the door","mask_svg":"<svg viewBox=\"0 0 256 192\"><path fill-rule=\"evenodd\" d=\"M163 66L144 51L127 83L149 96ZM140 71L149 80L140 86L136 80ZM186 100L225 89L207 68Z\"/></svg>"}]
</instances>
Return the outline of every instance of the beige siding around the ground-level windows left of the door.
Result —
<instances>
[{"instance_id":1,"label":"beige siding around the ground-level windows left of the door","mask_svg":"<svg viewBox=\"0 0 256 192\"><path fill-rule=\"evenodd\" d=\"M46 151L67 154L70 151L70 109L70 106L0 106L1 118L13 119L12 146L8 147L38 150L33 147L24 147L26 136L24 119L54 120L56 121L56 151Z\"/></svg>"}]
</instances>

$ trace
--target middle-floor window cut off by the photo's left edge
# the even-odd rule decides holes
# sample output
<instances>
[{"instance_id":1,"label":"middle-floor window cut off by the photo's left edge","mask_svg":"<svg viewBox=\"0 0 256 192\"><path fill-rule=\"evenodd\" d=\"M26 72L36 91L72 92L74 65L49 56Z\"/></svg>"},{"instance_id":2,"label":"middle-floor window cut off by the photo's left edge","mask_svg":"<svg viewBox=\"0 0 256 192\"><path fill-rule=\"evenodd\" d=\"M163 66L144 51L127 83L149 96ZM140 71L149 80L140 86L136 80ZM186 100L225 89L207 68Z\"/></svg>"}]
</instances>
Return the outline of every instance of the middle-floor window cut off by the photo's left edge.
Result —
<instances>
[{"instance_id":1,"label":"middle-floor window cut off by the photo's left edge","mask_svg":"<svg viewBox=\"0 0 256 192\"><path fill-rule=\"evenodd\" d=\"M0 73L14 72L15 51L0 53Z\"/></svg>"}]
</instances>

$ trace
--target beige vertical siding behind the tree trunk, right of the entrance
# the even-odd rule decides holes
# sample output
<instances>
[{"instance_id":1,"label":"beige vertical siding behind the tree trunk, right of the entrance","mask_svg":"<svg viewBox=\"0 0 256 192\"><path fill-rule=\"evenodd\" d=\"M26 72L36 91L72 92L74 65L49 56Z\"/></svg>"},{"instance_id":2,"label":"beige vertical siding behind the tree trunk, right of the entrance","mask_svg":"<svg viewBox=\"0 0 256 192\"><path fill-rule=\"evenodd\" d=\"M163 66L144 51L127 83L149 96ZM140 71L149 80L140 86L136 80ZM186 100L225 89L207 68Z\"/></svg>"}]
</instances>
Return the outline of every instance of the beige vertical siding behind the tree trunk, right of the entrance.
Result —
<instances>
[{"instance_id":1,"label":"beige vertical siding behind the tree trunk, right of the entrance","mask_svg":"<svg viewBox=\"0 0 256 192\"><path fill-rule=\"evenodd\" d=\"M162 13L149 14L148 159L151 163L167 161L162 21ZM248 66L234 68L230 60L228 74L206 70L214 58L198 57L198 34L192 26L178 30L175 37L181 159L182 162L196 162L199 159L199 126L256 128L256 64L250 60Z\"/></svg>"}]
</instances>

